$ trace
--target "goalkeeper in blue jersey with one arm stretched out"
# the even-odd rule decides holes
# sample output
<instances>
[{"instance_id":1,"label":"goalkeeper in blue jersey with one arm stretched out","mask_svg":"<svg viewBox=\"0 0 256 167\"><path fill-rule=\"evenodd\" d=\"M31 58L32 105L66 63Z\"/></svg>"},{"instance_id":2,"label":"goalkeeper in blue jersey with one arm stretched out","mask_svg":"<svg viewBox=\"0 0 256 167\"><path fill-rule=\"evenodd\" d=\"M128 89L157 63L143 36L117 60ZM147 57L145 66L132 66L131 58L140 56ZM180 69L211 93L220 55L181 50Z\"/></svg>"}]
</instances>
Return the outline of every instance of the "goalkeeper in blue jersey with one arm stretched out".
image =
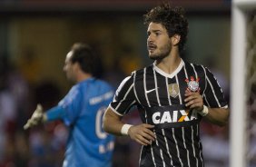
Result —
<instances>
[{"instance_id":1,"label":"goalkeeper in blue jersey with one arm stretched out","mask_svg":"<svg viewBox=\"0 0 256 167\"><path fill-rule=\"evenodd\" d=\"M24 129L61 120L69 127L64 167L111 167L114 138L103 132L102 118L113 99L113 88L95 77L97 56L90 46L74 44L66 55L64 72L74 86L48 111L37 107Z\"/></svg>"}]
</instances>

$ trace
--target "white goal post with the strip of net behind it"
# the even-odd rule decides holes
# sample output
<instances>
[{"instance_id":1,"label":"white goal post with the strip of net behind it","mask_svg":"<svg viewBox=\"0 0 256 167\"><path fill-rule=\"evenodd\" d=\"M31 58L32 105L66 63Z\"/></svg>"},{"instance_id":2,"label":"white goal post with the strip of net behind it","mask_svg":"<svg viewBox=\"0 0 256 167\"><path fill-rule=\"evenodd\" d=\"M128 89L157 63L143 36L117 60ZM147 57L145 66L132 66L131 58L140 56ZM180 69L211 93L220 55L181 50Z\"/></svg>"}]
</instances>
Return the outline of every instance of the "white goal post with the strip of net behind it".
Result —
<instances>
[{"instance_id":1,"label":"white goal post with the strip of net behind it","mask_svg":"<svg viewBox=\"0 0 256 167\"><path fill-rule=\"evenodd\" d=\"M256 0L233 0L231 167L256 166Z\"/></svg>"}]
</instances>

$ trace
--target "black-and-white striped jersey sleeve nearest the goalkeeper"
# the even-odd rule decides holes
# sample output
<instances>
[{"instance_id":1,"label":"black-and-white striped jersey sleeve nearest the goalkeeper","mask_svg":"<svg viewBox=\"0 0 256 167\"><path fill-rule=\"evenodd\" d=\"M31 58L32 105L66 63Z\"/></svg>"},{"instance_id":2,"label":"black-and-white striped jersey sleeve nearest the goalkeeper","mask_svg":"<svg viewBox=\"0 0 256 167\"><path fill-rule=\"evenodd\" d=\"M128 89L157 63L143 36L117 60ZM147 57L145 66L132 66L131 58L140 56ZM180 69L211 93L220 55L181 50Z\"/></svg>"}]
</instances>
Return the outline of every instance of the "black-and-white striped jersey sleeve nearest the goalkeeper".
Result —
<instances>
[{"instance_id":1,"label":"black-and-white striped jersey sleeve nearest the goalkeeper","mask_svg":"<svg viewBox=\"0 0 256 167\"><path fill-rule=\"evenodd\" d=\"M130 108L136 103L133 90L133 77L134 75L132 74L123 79L123 82L120 83L113 96L112 103L110 103L110 107L113 109L114 113L120 116L128 113Z\"/></svg>"}]
</instances>

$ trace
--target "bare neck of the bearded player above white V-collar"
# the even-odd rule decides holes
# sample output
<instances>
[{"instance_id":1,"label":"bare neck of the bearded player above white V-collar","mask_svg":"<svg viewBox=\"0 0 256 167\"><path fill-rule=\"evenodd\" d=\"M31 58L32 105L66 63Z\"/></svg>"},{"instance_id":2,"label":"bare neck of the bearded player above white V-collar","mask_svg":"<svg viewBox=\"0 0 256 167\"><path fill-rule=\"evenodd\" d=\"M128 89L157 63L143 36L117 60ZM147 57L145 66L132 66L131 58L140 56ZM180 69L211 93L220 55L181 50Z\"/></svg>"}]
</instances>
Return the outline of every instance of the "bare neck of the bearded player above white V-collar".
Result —
<instances>
[{"instance_id":1,"label":"bare neck of the bearded player above white V-collar","mask_svg":"<svg viewBox=\"0 0 256 167\"><path fill-rule=\"evenodd\" d=\"M172 74L179 64L181 64L181 57L179 54L170 54L160 61L156 61L156 66L160 68L166 74Z\"/></svg>"}]
</instances>

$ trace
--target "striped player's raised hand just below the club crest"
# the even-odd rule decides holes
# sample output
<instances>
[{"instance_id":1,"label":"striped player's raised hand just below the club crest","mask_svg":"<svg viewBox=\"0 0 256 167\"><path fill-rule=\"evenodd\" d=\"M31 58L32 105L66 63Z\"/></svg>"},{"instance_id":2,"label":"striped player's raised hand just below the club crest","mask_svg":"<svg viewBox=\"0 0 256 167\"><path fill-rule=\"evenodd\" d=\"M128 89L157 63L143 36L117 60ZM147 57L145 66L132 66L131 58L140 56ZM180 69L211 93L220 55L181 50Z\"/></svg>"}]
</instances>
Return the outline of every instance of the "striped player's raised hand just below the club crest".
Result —
<instances>
[{"instance_id":1,"label":"striped player's raised hand just below the club crest","mask_svg":"<svg viewBox=\"0 0 256 167\"><path fill-rule=\"evenodd\" d=\"M196 111L202 111L203 109L203 100L202 95L198 92L186 92L185 93L185 105L190 109L195 109Z\"/></svg>"}]
</instances>

